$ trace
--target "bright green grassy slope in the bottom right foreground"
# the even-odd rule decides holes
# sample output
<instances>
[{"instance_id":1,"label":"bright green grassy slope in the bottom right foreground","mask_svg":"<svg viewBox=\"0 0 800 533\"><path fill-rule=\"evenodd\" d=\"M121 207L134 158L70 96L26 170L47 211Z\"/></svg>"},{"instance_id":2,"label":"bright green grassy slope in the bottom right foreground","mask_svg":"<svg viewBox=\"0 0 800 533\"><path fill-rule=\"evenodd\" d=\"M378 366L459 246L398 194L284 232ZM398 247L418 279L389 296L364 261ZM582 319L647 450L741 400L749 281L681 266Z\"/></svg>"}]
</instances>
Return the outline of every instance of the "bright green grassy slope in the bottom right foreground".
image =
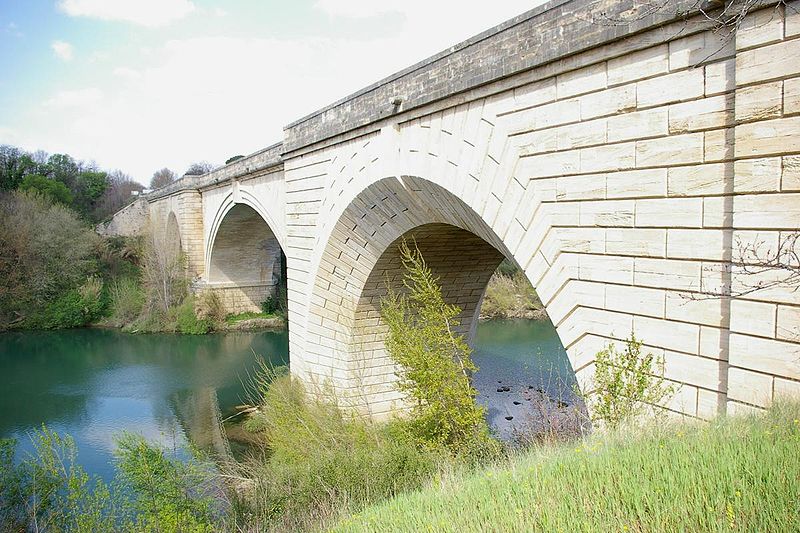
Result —
<instances>
[{"instance_id":1,"label":"bright green grassy slope in the bottom right foreground","mask_svg":"<svg viewBox=\"0 0 800 533\"><path fill-rule=\"evenodd\" d=\"M800 405L456 474L334 531L800 531Z\"/></svg>"}]
</instances>

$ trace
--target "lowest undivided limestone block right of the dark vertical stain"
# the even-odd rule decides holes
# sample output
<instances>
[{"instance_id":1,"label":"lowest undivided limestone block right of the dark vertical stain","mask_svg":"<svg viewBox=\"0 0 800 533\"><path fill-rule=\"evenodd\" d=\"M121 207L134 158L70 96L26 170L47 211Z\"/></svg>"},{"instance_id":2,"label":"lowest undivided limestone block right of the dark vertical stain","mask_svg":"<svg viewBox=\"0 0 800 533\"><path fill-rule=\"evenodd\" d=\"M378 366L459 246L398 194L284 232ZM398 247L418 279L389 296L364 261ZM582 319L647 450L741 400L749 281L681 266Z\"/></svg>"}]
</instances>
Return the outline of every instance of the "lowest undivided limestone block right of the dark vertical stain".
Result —
<instances>
[{"instance_id":1,"label":"lowest undivided limestone block right of the dark vertical stain","mask_svg":"<svg viewBox=\"0 0 800 533\"><path fill-rule=\"evenodd\" d=\"M765 374L800 379L800 344L731 333L729 362Z\"/></svg>"}]
</instances>

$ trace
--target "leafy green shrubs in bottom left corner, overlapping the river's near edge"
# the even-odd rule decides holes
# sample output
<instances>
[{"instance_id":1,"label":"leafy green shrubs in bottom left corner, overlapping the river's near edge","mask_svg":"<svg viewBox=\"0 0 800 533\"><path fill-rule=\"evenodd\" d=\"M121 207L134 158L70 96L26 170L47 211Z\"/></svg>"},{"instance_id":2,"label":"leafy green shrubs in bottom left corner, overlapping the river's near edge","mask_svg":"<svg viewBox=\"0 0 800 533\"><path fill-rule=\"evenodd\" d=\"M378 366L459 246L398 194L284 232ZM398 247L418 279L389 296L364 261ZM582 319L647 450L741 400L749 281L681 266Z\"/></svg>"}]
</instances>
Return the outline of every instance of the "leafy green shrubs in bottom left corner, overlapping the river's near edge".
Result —
<instances>
[{"instance_id":1,"label":"leafy green shrubs in bottom left corner, overlapping the river's near edge","mask_svg":"<svg viewBox=\"0 0 800 533\"><path fill-rule=\"evenodd\" d=\"M117 441L117 478L106 485L77 462L69 436L46 427L33 453L14 461L15 442L0 441L0 529L48 532L210 532L219 522L216 476L198 455L171 456L139 436Z\"/></svg>"}]
</instances>

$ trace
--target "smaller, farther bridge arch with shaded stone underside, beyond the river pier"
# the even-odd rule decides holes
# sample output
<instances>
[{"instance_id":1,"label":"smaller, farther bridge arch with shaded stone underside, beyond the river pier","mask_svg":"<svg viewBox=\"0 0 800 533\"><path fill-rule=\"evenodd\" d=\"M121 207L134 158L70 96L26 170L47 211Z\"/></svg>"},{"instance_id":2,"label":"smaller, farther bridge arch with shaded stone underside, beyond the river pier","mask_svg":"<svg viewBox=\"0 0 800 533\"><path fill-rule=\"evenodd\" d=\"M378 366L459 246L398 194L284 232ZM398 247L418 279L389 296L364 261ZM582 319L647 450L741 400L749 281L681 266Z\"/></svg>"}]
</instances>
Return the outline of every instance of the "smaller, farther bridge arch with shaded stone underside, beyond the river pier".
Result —
<instances>
[{"instance_id":1,"label":"smaller, farther bridge arch with shaded stone underside, beyond the river pier","mask_svg":"<svg viewBox=\"0 0 800 533\"><path fill-rule=\"evenodd\" d=\"M202 288L216 292L229 313L257 312L268 298L282 297L286 259L275 226L258 207L226 198L207 242Z\"/></svg>"}]
</instances>

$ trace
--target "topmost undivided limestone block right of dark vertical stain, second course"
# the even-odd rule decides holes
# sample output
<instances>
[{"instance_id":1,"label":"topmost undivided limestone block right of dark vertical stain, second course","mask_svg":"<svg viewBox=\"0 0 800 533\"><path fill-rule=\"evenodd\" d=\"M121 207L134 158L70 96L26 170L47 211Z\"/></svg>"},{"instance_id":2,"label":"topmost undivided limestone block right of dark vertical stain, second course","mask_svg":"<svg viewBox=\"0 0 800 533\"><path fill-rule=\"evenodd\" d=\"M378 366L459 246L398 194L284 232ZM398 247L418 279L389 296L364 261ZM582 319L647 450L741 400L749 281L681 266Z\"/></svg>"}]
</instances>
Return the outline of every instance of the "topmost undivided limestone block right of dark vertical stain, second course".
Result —
<instances>
[{"instance_id":1,"label":"topmost undivided limestone block right of dark vertical stain, second course","mask_svg":"<svg viewBox=\"0 0 800 533\"><path fill-rule=\"evenodd\" d=\"M800 74L800 39L736 54L736 84L750 85Z\"/></svg>"}]
</instances>

